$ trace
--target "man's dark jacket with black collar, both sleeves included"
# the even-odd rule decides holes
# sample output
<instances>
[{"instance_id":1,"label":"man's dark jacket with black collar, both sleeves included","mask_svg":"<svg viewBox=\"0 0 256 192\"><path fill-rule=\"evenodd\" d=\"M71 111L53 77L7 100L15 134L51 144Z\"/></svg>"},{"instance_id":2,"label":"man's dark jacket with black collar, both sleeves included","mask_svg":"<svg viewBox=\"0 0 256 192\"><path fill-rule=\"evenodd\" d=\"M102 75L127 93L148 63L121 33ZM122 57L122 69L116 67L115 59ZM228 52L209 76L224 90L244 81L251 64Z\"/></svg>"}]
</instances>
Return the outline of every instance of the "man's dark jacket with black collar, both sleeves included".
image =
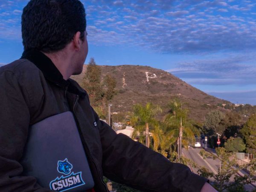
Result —
<instances>
[{"instance_id":1,"label":"man's dark jacket with black collar, both sleeves included","mask_svg":"<svg viewBox=\"0 0 256 192\"><path fill-rule=\"evenodd\" d=\"M117 135L99 120L78 83L64 80L39 51L24 52L22 59L0 68L0 107L0 191L49 191L34 177L22 176L19 161L29 126L66 111L76 119L96 192L108 191L103 175L147 192L200 192L207 181L187 166L170 162L126 135Z\"/></svg>"}]
</instances>

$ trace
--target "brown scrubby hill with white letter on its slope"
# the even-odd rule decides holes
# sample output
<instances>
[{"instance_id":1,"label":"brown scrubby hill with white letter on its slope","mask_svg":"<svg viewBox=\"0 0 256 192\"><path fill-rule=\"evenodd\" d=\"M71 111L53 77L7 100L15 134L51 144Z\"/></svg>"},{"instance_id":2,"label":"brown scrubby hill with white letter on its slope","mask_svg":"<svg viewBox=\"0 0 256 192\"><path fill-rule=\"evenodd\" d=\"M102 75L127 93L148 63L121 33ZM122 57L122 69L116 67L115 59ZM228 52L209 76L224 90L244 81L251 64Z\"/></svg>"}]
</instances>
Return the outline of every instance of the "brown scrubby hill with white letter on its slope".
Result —
<instances>
[{"instance_id":1,"label":"brown scrubby hill with white letter on its slope","mask_svg":"<svg viewBox=\"0 0 256 192\"><path fill-rule=\"evenodd\" d=\"M189 108L189 117L203 122L204 115L210 110L217 108L221 111L225 110L218 107L218 103L230 104L228 101L207 95L160 69L131 65L100 67L102 78L109 74L117 80L116 89L119 93L111 102L113 104L112 112L128 112L131 111L133 104L146 102L159 104L167 112L166 104L174 97L179 97L186 102L186 106ZM72 78L81 84L85 70L86 66L81 75L72 76Z\"/></svg>"}]
</instances>

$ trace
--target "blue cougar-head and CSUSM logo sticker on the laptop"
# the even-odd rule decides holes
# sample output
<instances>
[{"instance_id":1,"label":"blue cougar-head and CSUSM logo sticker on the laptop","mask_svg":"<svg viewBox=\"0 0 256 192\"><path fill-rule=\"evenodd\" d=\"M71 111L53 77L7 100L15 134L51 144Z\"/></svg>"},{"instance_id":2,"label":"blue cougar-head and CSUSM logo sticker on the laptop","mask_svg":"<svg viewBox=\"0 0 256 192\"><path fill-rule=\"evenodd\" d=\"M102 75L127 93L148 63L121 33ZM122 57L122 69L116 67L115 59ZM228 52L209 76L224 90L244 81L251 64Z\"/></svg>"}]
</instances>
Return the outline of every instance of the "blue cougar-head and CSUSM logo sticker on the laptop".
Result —
<instances>
[{"instance_id":1,"label":"blue cougar-head and CSUSM logo sticker on the laptop","mask_svg":"<svg viewBox=\"0 0 256 192\"><path fill-rule=\"evenodd\" d=\"M74 173L71 172L71 169L73 168L72 164L68 162L67 158L64 161L59 160L58 161L58 167L57 170L59 173L63 173L67 176L63 177L63 175L60 178L55 178L55 180L50 182L50 189L55 191L66 191L69 189L73 189L75 187L84 185L84 181L82 179L82 172ZM70 174L70 175L68 175Z\"/></svg>"}]
</instances>

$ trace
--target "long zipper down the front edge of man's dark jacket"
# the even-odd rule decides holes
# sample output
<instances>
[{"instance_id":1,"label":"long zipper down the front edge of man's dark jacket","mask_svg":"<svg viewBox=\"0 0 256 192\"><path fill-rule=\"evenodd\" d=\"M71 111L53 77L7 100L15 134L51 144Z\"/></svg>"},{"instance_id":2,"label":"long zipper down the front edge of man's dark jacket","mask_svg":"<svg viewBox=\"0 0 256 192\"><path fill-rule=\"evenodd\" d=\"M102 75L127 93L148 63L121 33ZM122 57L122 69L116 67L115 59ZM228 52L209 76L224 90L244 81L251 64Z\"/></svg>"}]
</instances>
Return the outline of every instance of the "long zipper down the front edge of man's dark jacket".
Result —
<instances>
[{"instance_id":1,"label":"long zipper down the front edge of man's dark jacket","mask_svg":"<svg viewBox=\"0 0 256 192\"><path fill-rule=\"evenodd\" d=\"M96 163L94 162L93 158L92 158L91 155L90 155L90 151L89 151L89 149L88 149L88 147L87 147L87 144L86 144L86 142L85 142L84 135L83 135L82 132L81 132L81 128L80 128L80 126L79 126L78 118L77 118L77 116L76 116L76 105L77 105L77 103L78 103L78 100L79 100L79 95L76 95L76 100L75 100L75 103L74 103L74 105L73 105L73 114L74 114L74 117L75 117L75 120L76 120L76 124L77 124L77 127L78 127L78 131L79 131L79 135L80 135L80 137L81 137L82 144L83 144L84 148L87 149L88 156L89 156L90 160L93 162L93 164L95 165L96 170L97 170L97 173L98 173L98 175L99 175L99 178L100 178L102 184L105 186L107 192L109 192L109 191L108 191L108 187L106 186L105 182L102 180L102 177L101 177L100 174L99 174L99 170L97 169Z\"/></svg>"}]
</instances>

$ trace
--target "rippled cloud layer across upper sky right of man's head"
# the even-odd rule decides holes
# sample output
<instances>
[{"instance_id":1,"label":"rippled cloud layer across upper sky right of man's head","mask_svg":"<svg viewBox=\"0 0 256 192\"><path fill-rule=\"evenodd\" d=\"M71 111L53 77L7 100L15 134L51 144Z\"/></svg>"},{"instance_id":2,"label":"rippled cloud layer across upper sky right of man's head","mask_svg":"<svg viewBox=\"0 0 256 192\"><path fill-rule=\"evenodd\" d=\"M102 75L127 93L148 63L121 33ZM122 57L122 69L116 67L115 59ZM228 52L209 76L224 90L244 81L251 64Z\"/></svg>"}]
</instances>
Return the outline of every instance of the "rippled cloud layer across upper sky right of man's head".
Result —
<instances>
[{"instance_id":1,"label":"rippled cloud layer across upper sky right of man's head","mask_svg":"<svg viewBox=\"0 0 256 192\"><path fill-rule=\"evenodd\" d=\"M84 1L85 6L88 3ZM101 26L96 22L91 25L115 31L124 37L120 39L122 43L145 49L192 54L256 49L253 1L98 0L90 6L94 9L87 12L106 22ZM108 7L108 14L99 14L104 6ZM122 23L116 25L117 22ZM92 43L104 42L105 32L102 38L100 33L91 33Z\"/></svg>"}]
</instances>

